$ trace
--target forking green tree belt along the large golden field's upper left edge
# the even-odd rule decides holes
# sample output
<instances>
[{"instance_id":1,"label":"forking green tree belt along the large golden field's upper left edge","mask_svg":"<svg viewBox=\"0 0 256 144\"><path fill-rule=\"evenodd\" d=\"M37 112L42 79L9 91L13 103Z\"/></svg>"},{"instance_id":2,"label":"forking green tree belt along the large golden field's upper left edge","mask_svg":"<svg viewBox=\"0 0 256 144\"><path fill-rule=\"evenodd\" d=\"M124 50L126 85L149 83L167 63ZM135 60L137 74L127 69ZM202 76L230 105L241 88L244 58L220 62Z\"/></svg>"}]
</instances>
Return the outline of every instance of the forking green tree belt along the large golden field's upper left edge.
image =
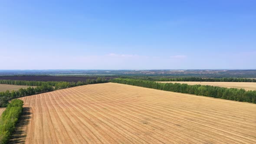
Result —
<instances>
[{"instance_id":1,"label":"forking green tree belt along the large golden field's upper left edge","mask_svg":"<svg viewBox=\"0 0 256 144\"><path fill-rule=\"evenodd\" d=\"M88 85L96 83L105 83L108 80L104 78L87 79L85 82L42 82L42 81L16 81L16 80L0 80L0 84L9 84L9 85L29 85L37 86L36 88L20 88L18 91L9 91L0 92L0 107L6 107L8 101L13 98L18 98L27 95L35 95L43 92L51 92L53 90L70 88L79 85Z\"/></svg>"}]
</instances>

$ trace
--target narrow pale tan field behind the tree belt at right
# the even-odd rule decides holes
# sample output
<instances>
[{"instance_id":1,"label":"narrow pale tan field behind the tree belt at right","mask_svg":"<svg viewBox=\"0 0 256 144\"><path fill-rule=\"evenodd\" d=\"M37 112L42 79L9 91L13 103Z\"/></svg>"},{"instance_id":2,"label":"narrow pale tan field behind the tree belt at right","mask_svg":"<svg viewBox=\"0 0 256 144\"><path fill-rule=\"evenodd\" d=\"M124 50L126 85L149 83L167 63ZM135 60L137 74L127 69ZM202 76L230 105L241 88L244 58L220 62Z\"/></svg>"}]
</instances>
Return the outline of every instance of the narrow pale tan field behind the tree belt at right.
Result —
<instances>
[{"instance_id":1,"label":"narrow pale tan field behind the tree belt at right","mask_svg":"<svg viewBox=\"0 0 256 144\"><path fill-rule=\"evenodd\" d=\"M244 88L245 90L256 90L256 82L161 82L161 83L181 83L188 85L213 85L226 88Z\"/></svg>"}]
</instances>

